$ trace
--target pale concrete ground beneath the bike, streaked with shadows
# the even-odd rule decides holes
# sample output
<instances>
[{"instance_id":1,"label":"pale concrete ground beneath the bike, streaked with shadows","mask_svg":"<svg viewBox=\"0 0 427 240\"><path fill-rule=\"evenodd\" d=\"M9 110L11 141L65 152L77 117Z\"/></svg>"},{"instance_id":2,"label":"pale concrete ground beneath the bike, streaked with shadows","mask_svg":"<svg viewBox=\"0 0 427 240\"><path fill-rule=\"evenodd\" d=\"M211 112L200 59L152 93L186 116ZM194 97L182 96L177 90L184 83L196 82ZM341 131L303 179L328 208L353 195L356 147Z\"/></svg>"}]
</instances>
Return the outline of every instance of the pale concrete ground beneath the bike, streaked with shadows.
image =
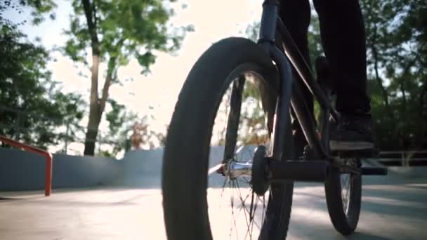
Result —
<instances>
[{"instance_id":1,"label":"pale concrete ground beneath the bike, streaked with shadows","mask_svg":"<svg viewBox=\"0 0 427 240\"><path fill-rule=\"evenodd\" d=\"M145 187L60 189L49 197L0 192L0 239L166 239L159 181L146 180ZM427 168L364 177L360 222L348 239L427 239L426 228ZM322 185L296 185L288 236L345 239L331 225Z\"/></svg>"}]
</instances>

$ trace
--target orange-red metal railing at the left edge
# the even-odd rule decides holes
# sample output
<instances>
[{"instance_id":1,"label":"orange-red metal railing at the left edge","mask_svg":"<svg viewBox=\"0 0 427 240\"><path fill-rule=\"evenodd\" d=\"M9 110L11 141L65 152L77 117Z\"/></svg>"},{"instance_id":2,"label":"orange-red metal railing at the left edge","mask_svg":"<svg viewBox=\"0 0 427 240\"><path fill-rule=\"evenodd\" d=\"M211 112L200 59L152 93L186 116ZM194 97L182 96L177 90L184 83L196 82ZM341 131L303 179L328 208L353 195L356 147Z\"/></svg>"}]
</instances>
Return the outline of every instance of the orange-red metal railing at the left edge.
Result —
<instances>
[{"instance_id":1,"label":"orange-red metal railing at the left edge","mask_svg":"<svg viewBox=\"0 0 427 240\"><path fill-rule=\"evenodd\" d=\"M0 141L6 142L8 145L13 147L18 147L20 149L25 149L29 152L34 152L46 157L46 179L44 183L44 195L49 196L52 193L52 154L38 147L32 147L10 138L6 138L4 135L0 135Z\"/></svg>"}]
</instances>

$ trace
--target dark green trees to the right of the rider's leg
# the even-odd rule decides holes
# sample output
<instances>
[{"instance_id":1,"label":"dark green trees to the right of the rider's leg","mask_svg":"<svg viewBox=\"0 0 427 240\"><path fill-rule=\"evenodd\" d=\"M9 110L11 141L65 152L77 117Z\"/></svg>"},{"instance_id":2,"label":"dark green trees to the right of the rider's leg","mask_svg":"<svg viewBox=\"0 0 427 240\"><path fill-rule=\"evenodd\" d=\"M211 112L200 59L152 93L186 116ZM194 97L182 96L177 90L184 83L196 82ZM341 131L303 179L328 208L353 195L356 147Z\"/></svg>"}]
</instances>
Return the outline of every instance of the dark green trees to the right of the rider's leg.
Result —
<instances>
[{"instance_id":1,"label":"dark green trees to the right of the rider's leg","mask_svg":"<svg viewBox=\"0 0 427 240\"><path fill-rule=\"evenodd\" d=\"M369 92L381 149L427 147L427 4L361 1Z\"/></svg>"}]
</instances>

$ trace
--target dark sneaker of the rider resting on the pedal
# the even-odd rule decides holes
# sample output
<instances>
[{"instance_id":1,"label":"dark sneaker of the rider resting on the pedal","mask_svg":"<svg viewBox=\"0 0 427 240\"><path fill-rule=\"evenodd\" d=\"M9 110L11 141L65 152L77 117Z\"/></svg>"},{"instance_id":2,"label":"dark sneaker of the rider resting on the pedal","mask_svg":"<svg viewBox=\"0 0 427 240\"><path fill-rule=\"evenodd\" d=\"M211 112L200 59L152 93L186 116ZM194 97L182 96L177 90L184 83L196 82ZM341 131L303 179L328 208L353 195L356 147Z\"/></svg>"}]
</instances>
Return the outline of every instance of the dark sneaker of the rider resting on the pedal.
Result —
<instances>
[{"instance_id":1,"label":"dark sneaker of the rider resting on the pedal","mask_svg":"<svg viewBox=\"0 0 427 240\"><path fill-rule=\"evenodd\" d=\"M329 147L332 152L374 149L370 114L341 114L332 124Z\"/></svg>"}]
</instances>

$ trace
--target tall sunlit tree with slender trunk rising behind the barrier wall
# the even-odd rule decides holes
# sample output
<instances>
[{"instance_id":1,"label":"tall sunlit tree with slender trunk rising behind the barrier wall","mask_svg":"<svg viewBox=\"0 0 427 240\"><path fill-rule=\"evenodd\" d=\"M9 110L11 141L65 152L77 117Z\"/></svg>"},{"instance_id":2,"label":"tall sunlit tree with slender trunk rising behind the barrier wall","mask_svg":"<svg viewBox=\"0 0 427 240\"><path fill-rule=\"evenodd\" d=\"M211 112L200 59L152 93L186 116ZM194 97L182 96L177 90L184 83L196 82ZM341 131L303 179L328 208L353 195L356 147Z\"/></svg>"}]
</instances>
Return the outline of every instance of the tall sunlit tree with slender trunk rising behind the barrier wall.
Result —
<instances>
[{"instance_id":1,"label":"tall sunlit tree with slender trunk rising behind the barrier wall","mask_svg":"<svg viewBox=\"0 0 427 240\"><path fill-rule=\"evenodd\" d=\"M65 32L70 39L64 50L72 60L86 66L88 48L91 50L91 96L84 154L93 155L93 140L98 135L108 91L119 82L117 69L135 57L143 67L142 74L148 74L156 53L176 51L185 32L192 27L171 27L169 19L174 11L169 1L74 0L72 6L70 29ZM98 87L100 62L107 65L102 89Z\"/></svg>"}]
</instances>

